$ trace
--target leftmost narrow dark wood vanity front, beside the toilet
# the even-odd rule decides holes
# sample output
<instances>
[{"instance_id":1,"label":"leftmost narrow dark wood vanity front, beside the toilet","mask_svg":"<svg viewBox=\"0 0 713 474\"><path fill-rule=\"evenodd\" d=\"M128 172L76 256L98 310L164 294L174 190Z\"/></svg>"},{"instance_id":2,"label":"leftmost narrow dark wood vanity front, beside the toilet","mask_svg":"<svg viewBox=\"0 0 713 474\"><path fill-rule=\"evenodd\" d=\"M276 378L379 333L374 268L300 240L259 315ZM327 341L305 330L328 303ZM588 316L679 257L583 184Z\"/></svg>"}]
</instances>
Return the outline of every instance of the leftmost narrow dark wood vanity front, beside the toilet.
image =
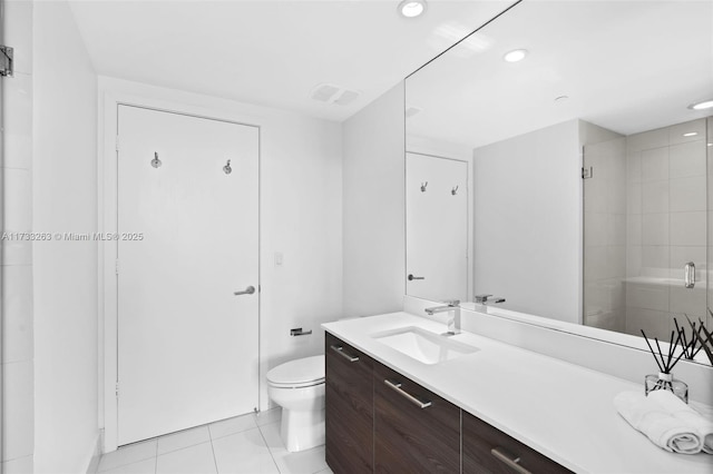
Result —
<instances>
[{"instance_id":1,"label":"leftmost narrow dark wood vanity front, beside the toilet","mask_svg":"<svg viewBox=\"0 0 713 474\"><path fill-rule=\"evenodd\" d=\"M326 333L326 463L335 473L373 472L373 361Z\"/></svg>"}]
</instances>

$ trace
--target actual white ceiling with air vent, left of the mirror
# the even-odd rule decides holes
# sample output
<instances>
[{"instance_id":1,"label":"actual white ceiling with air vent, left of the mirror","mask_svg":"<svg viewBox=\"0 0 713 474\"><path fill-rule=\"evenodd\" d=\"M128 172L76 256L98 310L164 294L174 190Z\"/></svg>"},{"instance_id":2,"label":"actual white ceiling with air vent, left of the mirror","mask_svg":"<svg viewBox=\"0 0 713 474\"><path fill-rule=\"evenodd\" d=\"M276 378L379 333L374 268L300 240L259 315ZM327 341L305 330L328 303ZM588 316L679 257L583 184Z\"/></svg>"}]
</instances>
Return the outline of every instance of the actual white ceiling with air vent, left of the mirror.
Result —
<instances>
[{"instance_id":1,"label":"actual white ceiling with air vent, left of the mirror","mask_svg":"<svg viewBox=\"0 0 713 474\"><path fill-rule=\"evenodd\" d=\"M72 1L97 73L344 120L514 0ZM329 82L361 91L314 101Z\"/></svg>"}]
</instances>

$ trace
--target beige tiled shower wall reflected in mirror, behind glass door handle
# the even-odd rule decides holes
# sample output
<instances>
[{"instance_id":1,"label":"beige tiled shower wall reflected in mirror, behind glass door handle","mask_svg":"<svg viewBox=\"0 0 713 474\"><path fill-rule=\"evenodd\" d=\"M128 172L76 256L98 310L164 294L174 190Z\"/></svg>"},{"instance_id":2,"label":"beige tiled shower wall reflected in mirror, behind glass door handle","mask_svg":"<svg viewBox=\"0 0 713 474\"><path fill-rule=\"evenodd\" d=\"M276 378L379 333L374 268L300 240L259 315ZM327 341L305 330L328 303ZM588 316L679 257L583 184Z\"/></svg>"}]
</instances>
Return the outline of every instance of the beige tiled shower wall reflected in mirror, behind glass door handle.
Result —
<instances>
[{"instance_id":1,"label":"beige tiled shower wall reflected in mirror, behind glass door handle","mask_svg":"<svg viewBox=\"0 0 713 474\"><path fill-rule=\"evenodd\" d=\"M627 137L626 333L668 339L673 317L706 318L705 137L705 119Z\"/></svg>"}]
</instances>

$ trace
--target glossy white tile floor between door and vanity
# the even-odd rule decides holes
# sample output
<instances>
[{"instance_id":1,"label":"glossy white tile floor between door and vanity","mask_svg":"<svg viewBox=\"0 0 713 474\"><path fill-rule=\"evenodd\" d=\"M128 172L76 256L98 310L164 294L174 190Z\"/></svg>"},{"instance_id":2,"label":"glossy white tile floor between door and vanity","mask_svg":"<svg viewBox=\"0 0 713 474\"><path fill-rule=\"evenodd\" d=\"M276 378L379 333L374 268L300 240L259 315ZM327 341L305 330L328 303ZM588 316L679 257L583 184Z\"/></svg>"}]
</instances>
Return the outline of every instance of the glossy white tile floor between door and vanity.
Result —
<instances>
[{"instance_id":1,"label":"glossy white tile floor between door and vanity","mask_svg":"<svg viewBox=\"0 0 713 474\"><path fill-rule=\"evenodd\" d=\"M324 446L289 453L281 408L224 419L118 448L99 461L107 474L331 474Z\"/></svg>"}]
</instances>

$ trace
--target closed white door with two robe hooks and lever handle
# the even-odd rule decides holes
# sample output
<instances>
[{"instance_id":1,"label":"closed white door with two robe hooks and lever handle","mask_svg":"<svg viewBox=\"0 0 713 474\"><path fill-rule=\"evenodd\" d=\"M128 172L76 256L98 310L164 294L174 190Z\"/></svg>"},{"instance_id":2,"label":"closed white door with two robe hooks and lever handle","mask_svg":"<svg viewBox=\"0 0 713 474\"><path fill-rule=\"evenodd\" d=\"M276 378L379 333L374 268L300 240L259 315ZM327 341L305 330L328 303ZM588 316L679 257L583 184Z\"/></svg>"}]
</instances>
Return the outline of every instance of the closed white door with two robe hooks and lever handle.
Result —
<instances>
[{"instance_id":1,"label":"closed white door with two robe hooks and lever handle","mask_svg":"<svg viewBox=\"0 0 713 474\"><path fill-rule=\"evenodd\" d=\"M123 445L257 406L258 129L119 106L118 144Z\"/></svg>"}]
</instances>

